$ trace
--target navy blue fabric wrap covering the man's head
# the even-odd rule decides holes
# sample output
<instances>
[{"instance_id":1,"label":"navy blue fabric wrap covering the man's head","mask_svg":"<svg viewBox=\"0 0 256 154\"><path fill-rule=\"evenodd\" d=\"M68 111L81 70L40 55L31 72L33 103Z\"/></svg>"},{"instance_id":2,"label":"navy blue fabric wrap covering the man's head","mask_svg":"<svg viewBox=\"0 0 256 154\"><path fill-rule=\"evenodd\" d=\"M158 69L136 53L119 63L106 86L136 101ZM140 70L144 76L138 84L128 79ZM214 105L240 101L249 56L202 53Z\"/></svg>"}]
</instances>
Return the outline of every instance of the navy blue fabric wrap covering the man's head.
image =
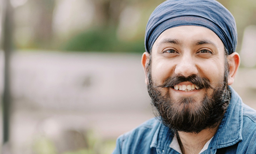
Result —
<instances>
[{"instance_id":1,"label":"navy blue fabric wrap covering the man's head","mask_svg":"<svg viewBox=\"0 0 256 154\"><path fill-rule=\"evenodd\" d=\"M151 14L145 32L150 52L158 36L169 28L202 26L215 32L231 54L236 50L236 23L232 14L215 0L167 0Z\"/></svg>"}]
</instances>

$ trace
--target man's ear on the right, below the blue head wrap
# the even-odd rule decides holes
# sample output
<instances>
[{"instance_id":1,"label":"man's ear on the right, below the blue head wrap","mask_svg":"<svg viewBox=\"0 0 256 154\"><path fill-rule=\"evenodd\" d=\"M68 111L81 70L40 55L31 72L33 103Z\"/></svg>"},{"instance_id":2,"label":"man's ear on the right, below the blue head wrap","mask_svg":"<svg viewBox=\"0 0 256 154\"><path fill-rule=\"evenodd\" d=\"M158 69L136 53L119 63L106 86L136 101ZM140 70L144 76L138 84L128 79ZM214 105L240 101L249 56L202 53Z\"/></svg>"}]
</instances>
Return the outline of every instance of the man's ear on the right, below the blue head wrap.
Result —
<instances>
[{"instance_id":1,"label":"man's ear on the right, below the blue head wrap","mask_svg":"<svg viewBox=\"0 0 256 154\"><path fill-rule=\"evenodd\" d=\"M236 76L236 71L238 70L240 64L239 54L233 52L232 54L228 55L228 64L230 68L230 73L228 75L228 85L231 85L234 82L234 77Z\"/></svg>"}]
</instances>

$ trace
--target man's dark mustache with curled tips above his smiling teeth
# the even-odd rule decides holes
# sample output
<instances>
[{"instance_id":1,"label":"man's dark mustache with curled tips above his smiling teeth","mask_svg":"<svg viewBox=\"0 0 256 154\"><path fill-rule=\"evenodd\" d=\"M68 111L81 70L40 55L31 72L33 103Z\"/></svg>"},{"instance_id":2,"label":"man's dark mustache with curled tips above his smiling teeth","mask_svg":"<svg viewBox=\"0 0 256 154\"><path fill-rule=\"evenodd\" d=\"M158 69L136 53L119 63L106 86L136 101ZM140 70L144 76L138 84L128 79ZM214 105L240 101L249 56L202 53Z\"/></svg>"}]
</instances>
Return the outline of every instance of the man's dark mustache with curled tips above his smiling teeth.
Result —
<instances>
[{"instance_id":1,"label":"man's dark mustache with curled tips above his smiling teeth","mask_svg":"<svg viewBox=\"0 0 256 154\"><path fill-rule=\"evenodd\" d=\"M157 87L160 87L160 88L174 87L174 86L178 85L179 83L186 82L186 81L191 82L194 85L198 86L199 89L201 89L201 88L212 88L213 89L213 87L210 84L209 79L207 79L206 77L200 77L195 74L190 75L188 77L184 77L182 75L175 75L172 77L168 77L167 79L165 79L163 84L161 84Z\"/></svg>"}]
</instances>

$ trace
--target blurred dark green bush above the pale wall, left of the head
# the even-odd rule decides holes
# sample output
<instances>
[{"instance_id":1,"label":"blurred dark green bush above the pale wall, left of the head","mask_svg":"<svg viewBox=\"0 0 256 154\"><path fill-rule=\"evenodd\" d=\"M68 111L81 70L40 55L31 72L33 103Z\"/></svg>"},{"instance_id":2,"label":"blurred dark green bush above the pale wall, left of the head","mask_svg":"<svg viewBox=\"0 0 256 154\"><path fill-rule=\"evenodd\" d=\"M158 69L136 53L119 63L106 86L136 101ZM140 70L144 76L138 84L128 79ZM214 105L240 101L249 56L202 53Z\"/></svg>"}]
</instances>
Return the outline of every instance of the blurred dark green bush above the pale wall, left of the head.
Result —
<instances>
[{"instance_id":1,"label":"blurred dark green bush above the pale wall, left of the head","mask_svg":"<svg viewBox=\"0 0 256 154\"><path fill-rule=\"evenodd\" d=\"M112 51L143 53L144 40L139 38L132 41L117 39L115 29L93 28L77 34L62 47L66 51Z\"/></svg>"}]
</instances>

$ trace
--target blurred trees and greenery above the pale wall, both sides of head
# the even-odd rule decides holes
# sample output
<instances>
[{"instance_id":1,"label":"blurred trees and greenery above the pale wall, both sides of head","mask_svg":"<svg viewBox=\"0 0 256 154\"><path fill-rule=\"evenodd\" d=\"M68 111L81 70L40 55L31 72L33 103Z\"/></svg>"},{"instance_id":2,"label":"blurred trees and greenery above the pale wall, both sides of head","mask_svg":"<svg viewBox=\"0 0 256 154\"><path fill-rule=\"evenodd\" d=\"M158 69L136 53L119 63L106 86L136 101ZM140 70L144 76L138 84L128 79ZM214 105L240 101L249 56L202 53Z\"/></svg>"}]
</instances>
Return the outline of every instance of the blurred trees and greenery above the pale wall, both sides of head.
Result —
<instances>
[{"instance_id":1,"label":"blurred trees and greenery above the pale wall, both sides of head","mask_svg":"<svg viewBox=\"0 0 256 154\"><path fill-rule=\"evenodd\" d=\"M12 0L15 47L66 51L144 51L148 17L164 0ZM218 0L243 30L256 25L255 0Z\"/></svg>"}]
</instances>

